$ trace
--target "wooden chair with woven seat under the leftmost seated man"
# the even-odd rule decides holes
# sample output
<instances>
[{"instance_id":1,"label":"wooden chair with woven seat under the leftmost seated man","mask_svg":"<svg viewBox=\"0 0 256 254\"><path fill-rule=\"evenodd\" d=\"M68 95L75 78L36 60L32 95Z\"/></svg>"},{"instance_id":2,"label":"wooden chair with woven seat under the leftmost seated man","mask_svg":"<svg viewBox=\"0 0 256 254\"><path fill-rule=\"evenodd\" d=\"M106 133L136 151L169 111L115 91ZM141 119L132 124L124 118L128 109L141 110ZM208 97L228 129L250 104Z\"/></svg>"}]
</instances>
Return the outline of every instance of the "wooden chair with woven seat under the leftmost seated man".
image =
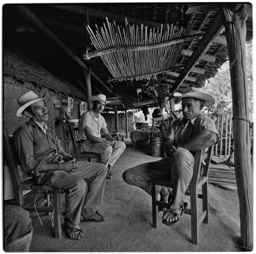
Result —
<instances>
[{"instance_id":1,"label":"wooden chair with woven seat under the leftmost seated man","mask_svg":"<svg viewBox=\"0 0 256 254\"><path fill-rule=\"evenodd\" d=\"M27 180L22 181L20 179L20 174L18 171L18 165L20 164L18 160L18 156L16 154L16 150L14 148L14 144L12 142L12 138L9 137L8 131L4 131L4 153L7 157L7 161L9 164L9 168L12 175L14 191L15 191L15 202L19 207L23 207L28 211L36 211L37 212L46 212L54 213L54 233L55 238L61 237L61 211L60 211L60 200L59 200L59 189L50 185L41 185L36 184L33 177ZM44 191L44 202L43 206L37 207L38 204L35 204L35 207L24 207L24 190L32 190L32 191ZM51 195L52 193L52 199Z\"/></svg>"}]
</instances>

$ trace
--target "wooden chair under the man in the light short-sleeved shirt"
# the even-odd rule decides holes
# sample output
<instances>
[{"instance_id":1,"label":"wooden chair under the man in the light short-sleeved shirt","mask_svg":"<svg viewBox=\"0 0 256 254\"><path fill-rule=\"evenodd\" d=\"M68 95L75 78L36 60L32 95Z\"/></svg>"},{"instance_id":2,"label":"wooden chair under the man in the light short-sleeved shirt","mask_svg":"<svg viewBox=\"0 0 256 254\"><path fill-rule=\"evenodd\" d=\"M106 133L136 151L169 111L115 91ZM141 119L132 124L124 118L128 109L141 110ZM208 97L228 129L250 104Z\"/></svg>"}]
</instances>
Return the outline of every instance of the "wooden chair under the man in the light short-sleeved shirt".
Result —
<instances>
[{"instance_id":1,"label":"wooden chair under the man in the light short-sleeved shirt","mask_svg":"<svg viewBox=\"0 0 256 254\"><path fill-rule=\"evenodd\" d=\"M96 159L96 162L100 163L99 154L88 151L82 151L82 140L78 136L78 127L75 127L74 122L61 122L58 124L58 126L60 128L60 139L64 144L68 144L68 147L69 143L72 143L74 157L78 161L88 160L89 162L92 162L93 159ZM67 149L67 153L70 154L70 148Z\"/></svg>"}]
</instances>

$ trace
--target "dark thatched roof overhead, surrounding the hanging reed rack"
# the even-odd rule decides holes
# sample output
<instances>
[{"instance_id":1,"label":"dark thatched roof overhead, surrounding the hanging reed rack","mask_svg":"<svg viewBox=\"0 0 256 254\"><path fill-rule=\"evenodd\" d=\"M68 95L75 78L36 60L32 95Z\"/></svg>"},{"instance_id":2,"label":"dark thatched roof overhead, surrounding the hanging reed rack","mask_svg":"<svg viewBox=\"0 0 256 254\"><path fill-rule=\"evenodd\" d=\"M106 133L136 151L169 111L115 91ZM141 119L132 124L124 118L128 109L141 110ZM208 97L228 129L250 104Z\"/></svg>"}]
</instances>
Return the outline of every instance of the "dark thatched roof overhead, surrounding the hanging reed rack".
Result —
<instances>
[{"instance_id":1,"label":"dark thatched roof overhead, surrounding the hanging reed rack","mask_svg":"<svg viewBox=\"0 0 256 254\"><path fill-rule=\"evenodd\" d=\"M114 97L113 105L120 110L152 106L156 101L161 103L165 96L182 87L203 87L208 79L218 73L227 59L225 30L220 22L220 7L224 5L233 11L248 8L246 39L251 40L251 4L7 4L3 7L4 48L12 48L15 52L30 57L36 64L55 76L62 77L81 93L86 89L84 70L91 68L92 94L104 93L108 98ZM125 27L126 18L132 26L139 24L147 29L148 34L150 29L155 28L156 31L157 28L161 29L161 26L164 31L168 24L169 28L175 27L172 30L174 33L182 34L179 39L183 41L172 45L168 50L163 47L166 52L159 56L166 57L169 54L168 57L172 58L172 61L163 69L160 66L160 73L152 75L152 78L148 76L149 78L145 79L115 80L115 67L112 71L104 56L90 60L84 58L84 54L94 53L99 49L91 38L92 34L90 37L88 24L94 34L97 30L95 24L99 30L105 26L108 31L106 17L117 27ZM166 31L168 33L168 30ZM109 37L110 41L112 38ZM172 38L176 38L175 34ZM106 46L106 49L109 48L113 48L113 45ZM154 65L157 57L158 54L149 58L151 60L146 60L145 65ZM138 61L130 60L130 68L135 69L139 62L143 67L143 59L141 55ZM115 64L120 68L122 60L116 61ZM129 75L129 69L126 73ZM131 75L133 74L130 73ZM47 84L54 86L54 83ZM77 94L75 89L70 89Z\"/></svg>"}]
</instances>

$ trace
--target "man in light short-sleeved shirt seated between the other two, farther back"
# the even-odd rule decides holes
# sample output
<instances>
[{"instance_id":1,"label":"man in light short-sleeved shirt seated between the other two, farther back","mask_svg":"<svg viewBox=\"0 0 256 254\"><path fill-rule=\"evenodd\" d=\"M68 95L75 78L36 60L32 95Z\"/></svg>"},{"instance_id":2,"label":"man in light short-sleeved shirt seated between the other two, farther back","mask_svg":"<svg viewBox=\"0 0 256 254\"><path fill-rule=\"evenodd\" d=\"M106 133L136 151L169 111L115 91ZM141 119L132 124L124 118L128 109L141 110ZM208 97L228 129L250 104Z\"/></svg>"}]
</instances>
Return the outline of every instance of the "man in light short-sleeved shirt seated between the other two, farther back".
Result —
<instances>
[{"instance_id":1,"label":"man in light short-sleeved shirt seated between the other two, farther back","mask_svg":"<svg viewBox=\"0 0 256 254\"><path fill-rule=\"evenodd\" d=\"M107 179L111 179L113 172L111 167L120 157L125 149L122 141L114 141L106 128L106 121L101 113L106 104L106 96L97 94L88 98L89 103L93 104L90 111L84 112L79 120L79 136L83 140L81 145L84 151L90 151L100 155L100 162L108 166ZM104 138L101 138L101 131Z\"/></svg>"}]
</instances>

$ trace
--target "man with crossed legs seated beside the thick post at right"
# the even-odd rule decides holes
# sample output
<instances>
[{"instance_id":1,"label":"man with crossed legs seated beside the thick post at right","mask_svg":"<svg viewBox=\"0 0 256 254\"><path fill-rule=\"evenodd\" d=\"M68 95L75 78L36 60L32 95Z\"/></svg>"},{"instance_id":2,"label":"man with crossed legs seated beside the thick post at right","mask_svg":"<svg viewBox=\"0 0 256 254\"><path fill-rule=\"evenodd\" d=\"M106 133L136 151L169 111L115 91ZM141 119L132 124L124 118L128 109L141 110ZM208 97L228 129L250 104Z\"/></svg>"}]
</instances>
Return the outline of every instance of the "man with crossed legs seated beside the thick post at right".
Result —
<instances>
[{"instance_id":1,"label":"man with crossed legs seated beside the thick post at right","mask_svg":"<svg viewBox=\"0 0 256 254\"><path fill-rule=\"evenodd\" d=\"M135 166L123 173L127 184L138 186L148 194L151 194L153 179L173 182L174 189L166 191L165 194L166 200L171 194L170 206L162 217L162 222L169 226L179 220L187 206L183 198L193 176L193 151L206 149L219 140L214 122L201 114L203 107L215 103L214 98L195 87L184 89L183 95L174 93L174 96L182 100L183 117L173 122L172 132L164 143L166 158ZM160 189L161 186L157 193ZM161 199L163 200L163 196Z\"/></svg>"}]
</instances>

